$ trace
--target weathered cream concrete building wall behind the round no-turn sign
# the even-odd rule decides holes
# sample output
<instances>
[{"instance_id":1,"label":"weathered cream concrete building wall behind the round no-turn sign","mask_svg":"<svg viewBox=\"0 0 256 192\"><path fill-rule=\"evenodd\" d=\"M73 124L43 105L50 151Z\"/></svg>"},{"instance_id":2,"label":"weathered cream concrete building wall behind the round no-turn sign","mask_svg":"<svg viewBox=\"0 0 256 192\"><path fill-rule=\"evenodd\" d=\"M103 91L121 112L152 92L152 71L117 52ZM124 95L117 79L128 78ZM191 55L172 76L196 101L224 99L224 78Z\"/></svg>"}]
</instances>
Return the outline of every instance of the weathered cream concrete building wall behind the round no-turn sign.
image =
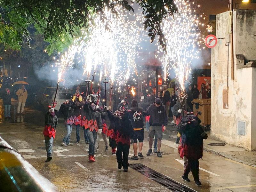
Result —
<instances>
[{"instance_id":1,"label":"weathered cream concrete building wall behind the round no-turn sign","mask_svg":"<svg viewBox=\"0 0 256 192\"><path fill-rule=\"evenodd\" d=\"M225 46L227 38L228 12L216 16L218 44L212 49L212 105L211 137L228 144L255 150L256 143L256 99L254 97L255 68L236 69L231 80L231 46ZM234 50L245 59L256 60L255 36L256 12L236 10L234 12ZM223 109L223 89L228 89L228 109ZM254 108L253 108L254 106ZM245 122L245 135L238 135L238 121Z\"/></svg>"}]
</instances>

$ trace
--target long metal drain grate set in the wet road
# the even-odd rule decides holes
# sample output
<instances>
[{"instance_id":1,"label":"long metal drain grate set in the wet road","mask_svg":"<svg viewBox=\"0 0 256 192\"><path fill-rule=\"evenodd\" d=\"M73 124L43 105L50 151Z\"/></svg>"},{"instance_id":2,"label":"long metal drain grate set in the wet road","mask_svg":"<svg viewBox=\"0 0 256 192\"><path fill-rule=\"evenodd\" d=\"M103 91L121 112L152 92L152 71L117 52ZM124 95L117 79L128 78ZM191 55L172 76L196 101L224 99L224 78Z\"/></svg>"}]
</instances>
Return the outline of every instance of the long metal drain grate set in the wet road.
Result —
<instances>
[{"instance_id":1,"label":"long metal drain grate set in the wet road","mask_svg":"<svg viewBox=\"0 0 256 192\"><path fill-rule=\"evenodd\" d=\"M195 190L188 188L141 163L130 164L130 167L149 179L156 181L165 188L170 189L172 192L196 192Z\"/></svg>"}]
</instances>

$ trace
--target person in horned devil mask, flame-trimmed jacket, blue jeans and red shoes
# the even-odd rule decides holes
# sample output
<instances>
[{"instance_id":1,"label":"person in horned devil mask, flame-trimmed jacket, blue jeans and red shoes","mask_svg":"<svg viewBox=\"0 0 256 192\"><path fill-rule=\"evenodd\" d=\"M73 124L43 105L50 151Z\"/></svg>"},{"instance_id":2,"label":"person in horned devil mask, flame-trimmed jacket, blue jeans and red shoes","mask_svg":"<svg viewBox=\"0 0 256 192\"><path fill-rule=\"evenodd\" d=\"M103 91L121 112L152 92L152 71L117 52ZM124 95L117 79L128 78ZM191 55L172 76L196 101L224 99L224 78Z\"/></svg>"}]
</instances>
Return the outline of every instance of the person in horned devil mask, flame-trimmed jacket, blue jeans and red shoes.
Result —
<instances>
[{"instance_id":1,"label":"person in horned devil mask, flame-trimmed jacket, blue jeans and red shoes","mask_svg":"<svg viewBox=\"0 0 256 192\"><path fill-rule=\"evenodd\" d=\"M97 103L91 102L90 95L87 96L87 99L84 104L85 111L85 120L83 129L85 130L88 139L89 139L89 161L95 162L94 151L95 144L97 140L97 133L101 134L102 132L102 121L100 112L96 110Z\"/></svg>"}]
</instances>

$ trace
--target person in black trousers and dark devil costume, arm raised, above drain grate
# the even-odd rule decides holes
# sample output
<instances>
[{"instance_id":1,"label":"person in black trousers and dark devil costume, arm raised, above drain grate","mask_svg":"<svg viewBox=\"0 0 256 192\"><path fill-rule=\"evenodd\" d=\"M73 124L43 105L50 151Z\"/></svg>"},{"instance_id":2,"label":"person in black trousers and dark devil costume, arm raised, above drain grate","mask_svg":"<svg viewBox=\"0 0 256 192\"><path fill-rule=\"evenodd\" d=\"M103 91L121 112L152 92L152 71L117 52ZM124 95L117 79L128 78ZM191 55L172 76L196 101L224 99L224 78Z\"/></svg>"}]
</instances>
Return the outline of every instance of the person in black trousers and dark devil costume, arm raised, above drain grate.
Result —
<instances>
[{"instance_id":1,"label":"person in black trousers and dark devil costume, arm raised, above drain grate","mask_svg":"<svg viewBox=\"0 0 256 192\"><path fill-rule=\"evenodd\" d=\"M116 134L116 143L117 143L117 150L116 150L116 159L118 163L118 169L124 168L124 172L128 171L128 155L130 150L130 140L134 135L134 131L132 128L131 120L129 113L124 111L115 111L112 114L107 106L104 106L104 110L107 111L110 121L115 124L115 131ZM122 157L123 153L123 157Z\"/></svg>"}]
</instances>

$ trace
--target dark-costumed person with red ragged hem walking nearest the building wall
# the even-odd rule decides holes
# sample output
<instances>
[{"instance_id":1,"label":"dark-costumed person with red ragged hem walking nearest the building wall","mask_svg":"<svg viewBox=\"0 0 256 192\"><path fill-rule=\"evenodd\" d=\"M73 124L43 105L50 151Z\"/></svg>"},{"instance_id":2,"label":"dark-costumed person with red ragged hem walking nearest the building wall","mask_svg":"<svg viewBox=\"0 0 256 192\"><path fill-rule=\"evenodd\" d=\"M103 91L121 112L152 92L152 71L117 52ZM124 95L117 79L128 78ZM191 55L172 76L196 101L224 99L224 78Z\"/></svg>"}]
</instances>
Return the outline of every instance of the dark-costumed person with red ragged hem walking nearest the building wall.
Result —
<instances>
[{"instance_id":1,"label":"dark-costumed person with red ragged hem walking nearest the building wall","mask_svg":"<svg viewBox=\"0 0 256 192\"><path fill-rule=\"evenodd\" d=\"M197 186L201 185L198 160L203 157L203 139L208 137L200 123L201 120L197 116L186 115L182 117L180 124L181 145L178 147L180 157L188 159L182 179L190 182L188 173L191 171Z\"/></svg>"}]
</instances>

